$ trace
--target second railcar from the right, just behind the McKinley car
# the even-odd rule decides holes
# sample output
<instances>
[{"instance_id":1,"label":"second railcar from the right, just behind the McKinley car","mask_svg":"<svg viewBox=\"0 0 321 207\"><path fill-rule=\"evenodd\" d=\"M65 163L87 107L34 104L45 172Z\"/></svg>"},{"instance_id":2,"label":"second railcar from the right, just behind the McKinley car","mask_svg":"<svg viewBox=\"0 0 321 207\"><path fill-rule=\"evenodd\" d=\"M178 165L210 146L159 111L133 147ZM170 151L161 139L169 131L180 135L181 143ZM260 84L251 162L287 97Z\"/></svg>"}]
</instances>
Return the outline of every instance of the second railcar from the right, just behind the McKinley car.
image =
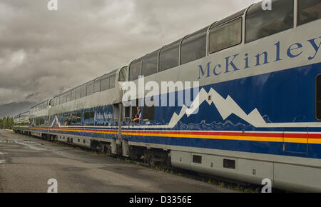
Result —
<instances>
[{"instance_id":1,"label":"second railcar from the right, just behind the McKinley car","mask_svg":"<svg viewBox=\"0 0 321 207\"><path fill-rule=\"evenodd\" d=\"M120 141L122 81L119 79L126 77L126 71L127 67L117 69L51 99L50 136L56 136L60 142L111 153L111 143L114 141L116 146Z\"/></svg>"}]
</instances>

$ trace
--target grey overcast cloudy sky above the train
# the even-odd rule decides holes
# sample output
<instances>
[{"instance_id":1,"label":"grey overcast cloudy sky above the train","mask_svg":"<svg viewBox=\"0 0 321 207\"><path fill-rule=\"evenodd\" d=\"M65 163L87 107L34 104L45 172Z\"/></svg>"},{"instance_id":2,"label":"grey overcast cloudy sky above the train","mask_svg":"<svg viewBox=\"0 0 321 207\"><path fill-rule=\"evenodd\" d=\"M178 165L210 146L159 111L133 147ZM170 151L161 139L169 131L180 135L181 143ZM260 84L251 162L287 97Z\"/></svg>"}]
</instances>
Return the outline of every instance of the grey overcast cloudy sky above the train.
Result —
<instances>
[{"instance_id":1,"label":"grey overcast cloudy sky above the train","mask_svg":"<svg viewBox=\"0 0 321 207\"><path fill-rule=\"evenodd\" d=\"M0 104L43 101L258 0L0 1Z\"/></svg>"}]
</instances>

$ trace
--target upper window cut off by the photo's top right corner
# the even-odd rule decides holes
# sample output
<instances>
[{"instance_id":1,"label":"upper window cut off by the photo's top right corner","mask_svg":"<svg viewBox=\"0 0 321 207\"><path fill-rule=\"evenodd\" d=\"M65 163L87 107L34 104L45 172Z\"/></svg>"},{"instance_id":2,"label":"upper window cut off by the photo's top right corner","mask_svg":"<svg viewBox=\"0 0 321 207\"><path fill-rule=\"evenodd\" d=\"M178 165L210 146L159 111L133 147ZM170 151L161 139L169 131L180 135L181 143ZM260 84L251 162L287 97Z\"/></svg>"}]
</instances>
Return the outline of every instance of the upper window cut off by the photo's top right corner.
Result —
<instances>
[{"instance_id":1,"label":"upper window cut off by the photo's top right corner","mask_svg":"<svg viewBox=\"0 0 321 207\"><path fill-rule=\"evenodd\" d=\"M321 18L321 0L297 1L297 25Z\"/></svg>"}]
</instances>

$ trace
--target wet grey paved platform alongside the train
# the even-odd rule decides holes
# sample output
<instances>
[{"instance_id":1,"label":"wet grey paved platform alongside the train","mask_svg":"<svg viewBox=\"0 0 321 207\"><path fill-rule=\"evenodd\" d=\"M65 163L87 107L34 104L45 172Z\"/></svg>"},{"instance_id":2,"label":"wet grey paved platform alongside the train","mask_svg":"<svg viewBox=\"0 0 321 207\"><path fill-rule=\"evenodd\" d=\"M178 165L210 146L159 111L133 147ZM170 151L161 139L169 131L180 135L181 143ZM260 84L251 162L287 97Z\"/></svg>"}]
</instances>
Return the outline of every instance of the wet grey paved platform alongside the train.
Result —
<instances>
[{"instance_id":1,"label":"wet grey paved platform alongside the train","mask_svg":"<svg viewBox=\"0 0 321 207\"><path fill-rule=\"evenodd\" d=\"M213 184L0 130L0 193L228 193Z\"/></svg>"}]
</instances>

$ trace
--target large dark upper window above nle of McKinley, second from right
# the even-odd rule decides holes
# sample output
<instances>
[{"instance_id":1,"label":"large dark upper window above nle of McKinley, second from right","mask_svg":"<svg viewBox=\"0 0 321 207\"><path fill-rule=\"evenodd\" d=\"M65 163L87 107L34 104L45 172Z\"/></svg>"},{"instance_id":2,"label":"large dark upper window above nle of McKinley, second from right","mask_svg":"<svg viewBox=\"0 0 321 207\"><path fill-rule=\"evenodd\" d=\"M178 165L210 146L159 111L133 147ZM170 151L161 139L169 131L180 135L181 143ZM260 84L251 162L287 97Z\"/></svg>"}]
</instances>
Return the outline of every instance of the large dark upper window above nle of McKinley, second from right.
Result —
<instances>
[{"instance_id":1,"label":"large dark upper window above nle of McKinley, second from right","mask_svg":"<svg viewBox=\"0 0 321 207\"><path fill-rule=\"evenodd\" d=\"M293 27L293 0L273 0L272 10L262 10L262 2L248 9L245 41L255 41Z\"/></svg>"}]
</instances>

